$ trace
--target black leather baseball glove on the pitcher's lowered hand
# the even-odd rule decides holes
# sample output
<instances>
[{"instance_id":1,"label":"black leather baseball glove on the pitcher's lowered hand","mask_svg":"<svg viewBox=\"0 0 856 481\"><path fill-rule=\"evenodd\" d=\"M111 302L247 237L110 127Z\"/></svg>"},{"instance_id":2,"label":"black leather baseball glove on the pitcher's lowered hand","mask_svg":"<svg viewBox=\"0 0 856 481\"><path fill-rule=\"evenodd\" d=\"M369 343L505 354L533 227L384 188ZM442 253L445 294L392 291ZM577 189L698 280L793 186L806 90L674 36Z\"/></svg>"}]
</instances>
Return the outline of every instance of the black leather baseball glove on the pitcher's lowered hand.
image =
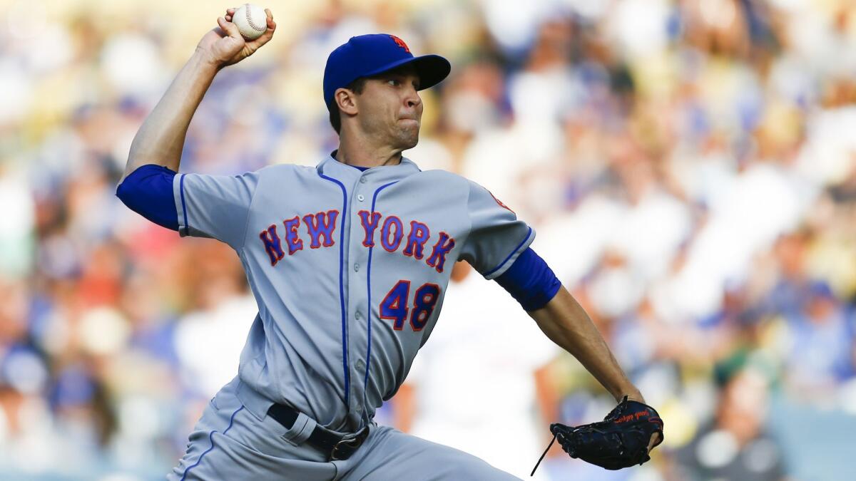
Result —
<instances>
[{"instance_id":1,"label":"black leather baseball glove on the pitcher's lowered hand","mask_svg":"<svg viewBox=\"0 0 856 481\"><path fill-rule=\"evenodd\" d=\"M654 446L663 442L663 419L660 419L653 407L639 401L629 401L624 396L603 421L576 427L554 423L550 425L550 432L553 433L550 446L558 439L562 449L572 458L616 470L640 465L651 459L648 443L654 433L660 434ZM544 455L541 459L544 459ZM535 468L538 469L538 465Z\"/></svg>"}]
</instances>

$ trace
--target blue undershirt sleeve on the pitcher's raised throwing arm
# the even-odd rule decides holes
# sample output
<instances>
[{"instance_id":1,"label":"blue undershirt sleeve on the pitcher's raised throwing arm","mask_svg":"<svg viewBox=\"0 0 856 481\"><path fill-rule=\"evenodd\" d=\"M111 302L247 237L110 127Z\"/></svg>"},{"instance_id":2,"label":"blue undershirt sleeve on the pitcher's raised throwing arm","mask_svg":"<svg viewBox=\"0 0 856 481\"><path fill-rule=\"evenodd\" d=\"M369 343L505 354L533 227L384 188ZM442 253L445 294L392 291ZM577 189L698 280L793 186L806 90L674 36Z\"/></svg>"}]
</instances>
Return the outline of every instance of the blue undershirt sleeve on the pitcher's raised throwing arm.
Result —
<instances>
[{"instance_id":1,"label":"blue undershirt sleeve on the pitcher's raised throwing arm","mask_svg":"<svg viewBox=\"0 0 856 481\"><path fill-rule=\"evenodd\" d=\"M178 230L172 181L175 172L149 163L141 165L116 187L116 197L142 217L167 229Z\"/></svg>"}]
</instances>

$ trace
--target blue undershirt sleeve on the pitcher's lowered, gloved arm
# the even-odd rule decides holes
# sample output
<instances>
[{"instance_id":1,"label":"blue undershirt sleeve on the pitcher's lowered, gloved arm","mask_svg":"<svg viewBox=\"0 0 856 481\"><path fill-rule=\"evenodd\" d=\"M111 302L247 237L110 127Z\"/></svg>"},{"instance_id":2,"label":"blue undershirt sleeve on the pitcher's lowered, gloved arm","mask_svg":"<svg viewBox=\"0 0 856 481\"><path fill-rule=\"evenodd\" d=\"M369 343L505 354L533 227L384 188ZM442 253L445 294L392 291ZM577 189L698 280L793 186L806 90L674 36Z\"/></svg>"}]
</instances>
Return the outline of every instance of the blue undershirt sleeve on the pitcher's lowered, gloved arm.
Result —
<instances>
[{"instance_id":1,"label":"blue undershirt sleeve on the pitcher's lowered, gloved arm","mask_svg":"<svg viewBox=\"0 0 856 481\"><path fill-rule=\"evenodd\" d=\"M546 306L562 287L562 282L532 247L526 248L495 281L520 302L524 311Z\"/></svg>"}]
</instances>

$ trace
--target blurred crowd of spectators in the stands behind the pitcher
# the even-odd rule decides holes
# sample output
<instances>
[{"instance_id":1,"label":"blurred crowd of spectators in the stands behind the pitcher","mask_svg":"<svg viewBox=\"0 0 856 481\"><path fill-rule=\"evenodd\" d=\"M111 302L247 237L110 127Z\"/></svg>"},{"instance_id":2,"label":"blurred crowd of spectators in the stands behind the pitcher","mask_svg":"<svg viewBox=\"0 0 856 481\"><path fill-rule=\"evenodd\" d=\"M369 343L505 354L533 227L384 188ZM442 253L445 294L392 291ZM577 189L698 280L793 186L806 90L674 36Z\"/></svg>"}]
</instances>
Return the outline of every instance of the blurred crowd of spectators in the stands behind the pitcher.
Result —
<instances>
[{"instance_id":1,"label":"blurred crowd of spectators in the stands behind the pitcher","mask_svg":"<svg viewBox=\"0 0 856 481\"><path fill-rule=\"evenodd\" d=\"M234 252L115 196L137 128L226 6L0 2L0 478L162 478L235 376L256 306ZM856 3L266 6L276 36L218 74L181 171L318 163L337 141L324 62L351 35L449 58L406 157L478 181L532 224L533 248L665 419L644 467L554 452L542 469L847 478L852 435L805 434L856 425ZM437 333L447 318L472 316L448 306ZM494 327L514 323L531 319ZM504 353L537 360L538 432L609 411L572 357L536 349ZM405 404L379 416L398 422Z\"/></svg>"}]
</instances>

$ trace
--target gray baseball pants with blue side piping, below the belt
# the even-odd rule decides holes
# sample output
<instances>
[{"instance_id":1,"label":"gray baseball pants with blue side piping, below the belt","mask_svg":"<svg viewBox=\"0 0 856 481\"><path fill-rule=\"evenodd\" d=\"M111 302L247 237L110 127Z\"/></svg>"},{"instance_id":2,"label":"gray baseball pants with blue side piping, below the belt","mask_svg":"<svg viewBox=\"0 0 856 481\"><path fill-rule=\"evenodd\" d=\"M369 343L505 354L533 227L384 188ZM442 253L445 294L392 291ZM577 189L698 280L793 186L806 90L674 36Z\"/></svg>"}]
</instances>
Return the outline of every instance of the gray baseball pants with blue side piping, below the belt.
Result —
<instances>
[{"instance_id":1,"label":"gray baseball pants with blue side piping, below the belt","mask_svg":"<svg viewBox=\"0 0 856 481\"><path fill-rule=\"evenodd\" d=\"M381 425L372 425L348 460L327 461L303 442L308 433L297 428L305 424L301 419L286 429L270 416L257 418L236 397L235 385L224 386L205 408L170 481L518 479L471 454Z\"/></svg>"}]
</instances>

